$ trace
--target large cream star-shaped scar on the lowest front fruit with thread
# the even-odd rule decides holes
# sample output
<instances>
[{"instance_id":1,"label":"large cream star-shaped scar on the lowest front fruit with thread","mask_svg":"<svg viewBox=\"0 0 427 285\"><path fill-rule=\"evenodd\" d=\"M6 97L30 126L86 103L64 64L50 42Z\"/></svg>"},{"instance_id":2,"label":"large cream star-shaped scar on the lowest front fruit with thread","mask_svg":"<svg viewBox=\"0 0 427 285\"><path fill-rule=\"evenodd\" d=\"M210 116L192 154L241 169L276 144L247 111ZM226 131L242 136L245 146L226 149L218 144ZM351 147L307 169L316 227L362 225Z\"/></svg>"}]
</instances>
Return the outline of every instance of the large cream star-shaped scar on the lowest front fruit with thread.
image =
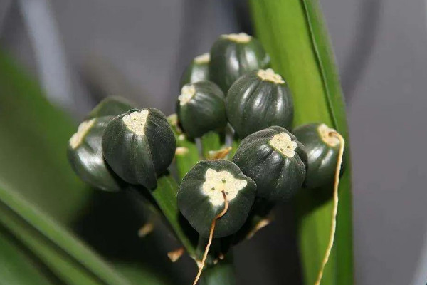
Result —
<instances>
[{"instance_id":1,"label":"large cream star-shaped scar on the lowest front fruit with thread","mask_svg":"<svg viewBox=\"0 0 427 285\"><path fill-rule=\"evenodd\" d=\"M248 185L246 180L237 179L226 170L216 171L209 168L206 170L205 182L201 188L212 205L221 206L224 204L222 191L226 193L227 200L230 202L246 185Z\"/></svg>"}]
</instances>

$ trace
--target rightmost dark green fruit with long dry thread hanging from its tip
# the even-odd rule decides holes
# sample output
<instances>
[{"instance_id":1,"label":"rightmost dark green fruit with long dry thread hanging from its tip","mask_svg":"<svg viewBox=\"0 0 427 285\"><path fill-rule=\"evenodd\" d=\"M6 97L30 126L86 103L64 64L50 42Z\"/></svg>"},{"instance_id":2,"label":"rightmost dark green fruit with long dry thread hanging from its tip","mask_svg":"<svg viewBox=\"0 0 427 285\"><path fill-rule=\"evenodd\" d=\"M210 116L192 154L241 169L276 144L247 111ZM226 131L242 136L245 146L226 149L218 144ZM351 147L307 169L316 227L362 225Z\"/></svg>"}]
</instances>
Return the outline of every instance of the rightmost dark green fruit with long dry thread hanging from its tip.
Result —
<instances>
[{"instance_id":1,"label":"rightmost dark green fruit with long dry thread hanging from its tip","mask_svg":"<svg viewBox=\"0 0 427 285\"><path fill-rule=\"evenodd\" d=\"M302 125L293 130L307 150L308 168L304 182L307 188L321 187L334 181L340 142L330 135L331 132L336 130L320 123Z\"/></svg>"}]
</instances>

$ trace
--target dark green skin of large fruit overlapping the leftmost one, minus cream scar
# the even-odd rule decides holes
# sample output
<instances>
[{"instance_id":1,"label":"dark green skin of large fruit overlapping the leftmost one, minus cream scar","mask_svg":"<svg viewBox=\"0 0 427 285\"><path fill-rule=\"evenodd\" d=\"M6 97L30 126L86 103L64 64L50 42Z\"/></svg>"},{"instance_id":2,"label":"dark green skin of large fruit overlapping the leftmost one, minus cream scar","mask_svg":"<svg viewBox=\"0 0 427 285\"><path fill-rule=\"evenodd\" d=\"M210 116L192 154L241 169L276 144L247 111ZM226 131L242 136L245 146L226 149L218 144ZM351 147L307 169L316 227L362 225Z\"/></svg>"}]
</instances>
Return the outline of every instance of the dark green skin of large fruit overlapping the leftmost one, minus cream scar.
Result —
<instances>
[{"instance_id":1,"label":"dark green skin of large fruit overlapping the leftmost one, minus cream scar","mask_svg":"<svg viewBox=\"0 0 427 285\"><path fill-rule=\"evenodd\" d=\"M157 175L167 170L175 154L174 133L162 112L148 110L144 135L133 133L122 118L135 111L115 117L102 135L102 152L114 172L130 184L149 189L157 187Z\"/></svg>"}]
</instances>

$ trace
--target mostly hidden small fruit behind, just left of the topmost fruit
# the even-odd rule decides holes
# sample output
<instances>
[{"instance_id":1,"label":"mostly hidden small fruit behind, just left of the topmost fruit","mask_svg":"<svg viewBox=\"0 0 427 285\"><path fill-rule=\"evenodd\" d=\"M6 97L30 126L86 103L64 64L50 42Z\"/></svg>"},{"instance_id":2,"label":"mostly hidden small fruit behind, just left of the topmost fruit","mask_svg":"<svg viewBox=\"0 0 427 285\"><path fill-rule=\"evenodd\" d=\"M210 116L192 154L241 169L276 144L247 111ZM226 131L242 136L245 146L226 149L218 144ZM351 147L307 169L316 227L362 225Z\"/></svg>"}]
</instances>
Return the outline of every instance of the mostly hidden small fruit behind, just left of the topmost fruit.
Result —
<instances>
[{"instance_id":1,"label":"mostly hidden small fruit behind, just left of the topmost fruit","mask_svg":"<svg viewBox=\"0 0 427 285\"><path fill-rule=\"evenodd\" d=\"M181 76L181 88L188 83L197 81L209 81L209 62L211 57L209 53L196 56L189 66L187 66Z\"/></svg>"}]
</instances>

